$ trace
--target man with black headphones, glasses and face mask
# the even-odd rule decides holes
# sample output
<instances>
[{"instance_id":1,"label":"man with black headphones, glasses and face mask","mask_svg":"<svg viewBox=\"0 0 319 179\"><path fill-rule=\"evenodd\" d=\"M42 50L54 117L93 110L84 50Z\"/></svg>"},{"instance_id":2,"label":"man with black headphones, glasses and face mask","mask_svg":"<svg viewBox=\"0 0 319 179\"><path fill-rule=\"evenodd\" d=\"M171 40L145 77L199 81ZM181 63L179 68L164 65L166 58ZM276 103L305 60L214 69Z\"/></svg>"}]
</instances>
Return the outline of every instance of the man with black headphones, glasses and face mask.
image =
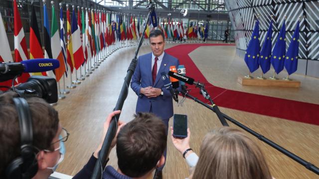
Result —
<instances>
[{"instance_id":1,"label":"man with black headphones, glasses and face mask","mask_svg":"<svg viewBox=\"0 0 319 179\"><path fill-rule=\"evenodd\" d=\"M47 179L63 160L68 136L43 99L0 94L0 179Z\"/></svg>"}]
</instances>

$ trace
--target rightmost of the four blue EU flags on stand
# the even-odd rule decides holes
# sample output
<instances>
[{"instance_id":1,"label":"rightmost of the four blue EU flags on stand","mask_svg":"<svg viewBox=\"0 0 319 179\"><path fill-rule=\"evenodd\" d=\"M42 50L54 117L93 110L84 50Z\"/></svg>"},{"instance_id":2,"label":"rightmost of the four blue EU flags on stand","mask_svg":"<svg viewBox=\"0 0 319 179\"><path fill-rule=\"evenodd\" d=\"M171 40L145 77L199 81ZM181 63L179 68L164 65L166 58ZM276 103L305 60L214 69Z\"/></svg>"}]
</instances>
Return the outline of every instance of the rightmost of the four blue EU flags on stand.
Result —
<instances>
[{"instance_id":1,"label":"rightmost of the four blue EU flags on stand","mask_svg":"<svg viewBox=\"0 0 319 179\"><path fill-rule=\"evenodd\" d=\"M298 54L299 54L299 21L295 29L294 35L290 41L288 51L285 58L285 68L288 75L297 71L298 66Z\"/></svg>"}]
</instances>

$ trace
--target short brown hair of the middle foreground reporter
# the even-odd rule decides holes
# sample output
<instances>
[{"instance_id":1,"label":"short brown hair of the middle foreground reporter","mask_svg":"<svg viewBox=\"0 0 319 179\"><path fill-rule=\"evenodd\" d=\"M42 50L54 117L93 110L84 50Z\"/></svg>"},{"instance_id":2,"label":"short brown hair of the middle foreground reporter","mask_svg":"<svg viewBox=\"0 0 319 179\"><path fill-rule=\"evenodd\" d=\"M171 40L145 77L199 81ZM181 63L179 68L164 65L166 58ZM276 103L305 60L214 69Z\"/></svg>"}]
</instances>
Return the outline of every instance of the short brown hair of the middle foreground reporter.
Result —
<instances>
[{"instance_id":1,"label":"short brown hair of the middle foreground reporter","mask_svg":"<svg viewBox=\"0 0 319 179\"><path fill-rule=\"evenodd\" d=\"M166 148L166 126L152 113L138 113L117 137L118 166L128 177L142 177L156 168Z\"/></svg>"}]
</instances>

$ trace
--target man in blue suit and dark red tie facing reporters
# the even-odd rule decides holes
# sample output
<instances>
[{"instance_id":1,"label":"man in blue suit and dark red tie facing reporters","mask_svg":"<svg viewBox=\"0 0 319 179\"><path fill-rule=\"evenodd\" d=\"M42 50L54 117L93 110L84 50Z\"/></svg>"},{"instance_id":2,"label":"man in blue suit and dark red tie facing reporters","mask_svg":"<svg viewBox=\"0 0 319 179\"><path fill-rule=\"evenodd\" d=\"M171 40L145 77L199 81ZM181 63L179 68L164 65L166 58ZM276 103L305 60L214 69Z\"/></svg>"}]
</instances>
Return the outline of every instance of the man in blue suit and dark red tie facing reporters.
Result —
<instances>
[{"instance_id":1,"label":"man in blue suit and dark red tie facing reporters","mask_svg":"<svg viewBox=\"0 0 319 179\"><path fill-rule=\"evenodd\" d=\"M152 53L139 57L132 77L131 88L139 96L136 112L152 112L160 117L166 125L173 116L172 95L164 88L161 72L168 74L169 67L178 67L179 62L175 57L164 52L164 34L161 30L152 30L150 33ZM166 159L166 149L164 152ZM161 178L164 165L156 170L155 178Z\"/></svg>"}]
</instances>

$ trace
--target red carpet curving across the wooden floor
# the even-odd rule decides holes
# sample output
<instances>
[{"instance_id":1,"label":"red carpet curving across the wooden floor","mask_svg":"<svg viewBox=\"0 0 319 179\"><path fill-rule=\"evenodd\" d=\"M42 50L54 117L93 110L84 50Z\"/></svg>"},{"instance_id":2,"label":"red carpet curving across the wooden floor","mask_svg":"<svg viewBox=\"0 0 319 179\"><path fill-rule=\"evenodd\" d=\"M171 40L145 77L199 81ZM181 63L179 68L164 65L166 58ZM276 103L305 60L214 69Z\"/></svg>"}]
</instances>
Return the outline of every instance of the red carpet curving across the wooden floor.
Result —
<instances>
[{"instance_id":1,"label":"red carpet curving across the wooden floor","mask_svg":"<svg viewBox=\"0 0 319 179\"><path fill-rule=\"evenodd\" d=\"M218 106L319 125L318 104L223 89L208 83L188 54L200 46L220 45L230 44L183 44L165 52L179 59L179 63L185 66L188 77L205 84L206 90ZM208 102L199 94L199 89L194 89L194 86L189 86L188 89L193 89L191 95Z\"/></svg>"}]
</instances>

